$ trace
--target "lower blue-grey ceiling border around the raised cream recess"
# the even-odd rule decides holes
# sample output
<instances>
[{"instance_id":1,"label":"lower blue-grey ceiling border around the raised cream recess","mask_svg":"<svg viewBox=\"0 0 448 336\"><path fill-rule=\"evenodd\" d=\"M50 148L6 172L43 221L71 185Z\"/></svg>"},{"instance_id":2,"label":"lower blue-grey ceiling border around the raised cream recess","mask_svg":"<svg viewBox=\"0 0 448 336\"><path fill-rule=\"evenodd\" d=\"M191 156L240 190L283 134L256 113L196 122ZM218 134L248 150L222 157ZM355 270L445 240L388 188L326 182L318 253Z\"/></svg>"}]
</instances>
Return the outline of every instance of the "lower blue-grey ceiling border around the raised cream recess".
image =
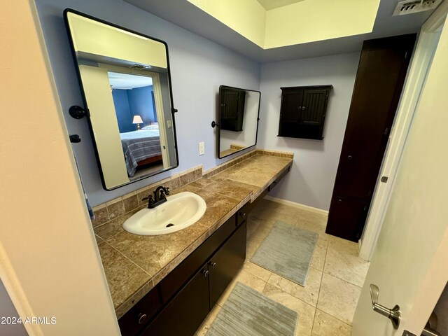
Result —
<instances>
[{"instance_id":1,"label":"lower blue-grey ceiling border around the raised cream recess","mask_svg":"<svg viewBox=\"0 0 448 336\"><path fill-rule=\"evenodd\" d=\"M190 1L125 1L204 38L220 43L257 62L276 62L358 52L362 48L363 41L367 39L418 32L423 22L433 13L433 10L428 10L410 15L392 16L398 0L381 0L374 20L374 27L370 33L263 49L193 5Z\"/></svg>"}]
</instances>

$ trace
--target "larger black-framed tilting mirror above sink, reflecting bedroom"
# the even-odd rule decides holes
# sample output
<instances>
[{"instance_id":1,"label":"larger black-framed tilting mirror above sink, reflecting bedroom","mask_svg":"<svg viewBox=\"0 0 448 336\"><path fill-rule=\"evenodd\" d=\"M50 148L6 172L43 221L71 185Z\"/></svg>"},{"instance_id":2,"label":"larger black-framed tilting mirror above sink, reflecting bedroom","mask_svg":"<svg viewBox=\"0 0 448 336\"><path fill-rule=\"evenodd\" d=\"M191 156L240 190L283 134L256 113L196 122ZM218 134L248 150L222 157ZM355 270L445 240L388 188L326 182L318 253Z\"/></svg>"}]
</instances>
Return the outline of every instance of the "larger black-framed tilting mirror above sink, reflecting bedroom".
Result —
<instances>
[{"instance_id":1,"label":"larger black-framed tilting mirror above sink, reflecting bedroom","mask_svg":"<svg viewBox=\"0 0 448 336\"><path fill-rule=\"evenodd\" d=\"M179 165L167 43L64 12L103 187Z\"/></svg>"}]
</instances>

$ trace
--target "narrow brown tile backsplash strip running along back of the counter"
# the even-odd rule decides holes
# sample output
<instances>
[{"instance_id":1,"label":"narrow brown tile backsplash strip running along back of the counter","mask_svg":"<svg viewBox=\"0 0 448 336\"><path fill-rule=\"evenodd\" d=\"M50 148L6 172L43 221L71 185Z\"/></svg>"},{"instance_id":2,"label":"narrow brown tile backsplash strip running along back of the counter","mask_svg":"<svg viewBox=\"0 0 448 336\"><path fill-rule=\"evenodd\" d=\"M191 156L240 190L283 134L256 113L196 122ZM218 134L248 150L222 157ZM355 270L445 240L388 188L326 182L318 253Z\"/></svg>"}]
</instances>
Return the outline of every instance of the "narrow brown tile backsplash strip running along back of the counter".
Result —
<instances>
[{"instance_id":1,"label":"narrow brown tile backsplash strip running along back of the counter","mask_svg":"<svg viewBox=\"0 0 448 336\"><path fill-rule=\"evenodd\" d=\"M255 149L244 155L240 155L237 158L233 158L232 160L229 160L222 165L218 165L216 167L208 169L205 172L203 172L202 165L193 167L186 170L185 172L173 175L167 179L163 179L162 181L155 182L149 186L135 190L132 193L128 193L126 195L118 197L115 200L111 200L109 202L99 204L97 205L97 207L93 207L95 219L94 221L92 221L92 225L94 228L97 228L100 225L103 225L104 223L117 218L118 216L127 214L130 211L134 211L139 207L144 207L147 202L142 201L142 199L152 194L155 188L157 188L158 186L165 186L168 187L170 191L174 191L176 189L182 188L183 186L186 186L189 183L201 179L202 177L209 179L211 176L214 176L233 165L237 165L237 163L251 158L251 156L256 154L273 155L281 158L293 158L292 153Z\"/></svg>"}]
</instances>

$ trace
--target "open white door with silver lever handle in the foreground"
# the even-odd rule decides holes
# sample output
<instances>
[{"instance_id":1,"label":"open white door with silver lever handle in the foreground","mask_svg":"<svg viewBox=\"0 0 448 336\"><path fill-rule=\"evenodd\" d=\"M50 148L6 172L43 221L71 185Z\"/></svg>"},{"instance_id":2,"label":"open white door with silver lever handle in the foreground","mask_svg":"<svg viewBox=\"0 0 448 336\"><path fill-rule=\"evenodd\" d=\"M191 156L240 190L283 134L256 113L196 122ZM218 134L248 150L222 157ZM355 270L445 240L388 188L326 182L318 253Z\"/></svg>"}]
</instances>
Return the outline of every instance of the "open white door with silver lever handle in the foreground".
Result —
<instances>
[{"instance_id":1,"label":"open white door with silver lever handle in the foreground","mask_svg":"<svg viewBox=\"0 0 448 336\"><path fill-rule=\"evenodd\" d=\"M433 16L445 20L447 8L444 1ZM351 335L401 336L408 330L420 336L447 281L448 24L445 23L416 106L377 247L353 316ZM371 283L379 287L379 304L389 308L400 305L398 329L393 328L388 318L372 310Z\"/></svg>"}]
</instances>

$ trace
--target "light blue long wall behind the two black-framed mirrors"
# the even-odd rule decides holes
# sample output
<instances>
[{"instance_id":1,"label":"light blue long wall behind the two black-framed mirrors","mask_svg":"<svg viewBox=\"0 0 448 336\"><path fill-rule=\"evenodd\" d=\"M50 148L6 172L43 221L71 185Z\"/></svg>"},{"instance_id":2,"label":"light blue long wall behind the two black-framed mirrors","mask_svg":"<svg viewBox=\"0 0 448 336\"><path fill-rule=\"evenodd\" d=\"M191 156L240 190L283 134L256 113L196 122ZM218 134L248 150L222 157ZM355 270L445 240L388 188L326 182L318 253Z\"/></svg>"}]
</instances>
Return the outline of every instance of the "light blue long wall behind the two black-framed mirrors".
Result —
<instances>
[{"instance_id":1,"label":"light blue long wall behind the two black-framed mirrors","mask_svg":"<svg viewBox=\"0 0 448 336\"><path fill-rule=\"evenodd\" d=\"M92 205L112 200L190 167L202 164L204 169L209 169L232 158L217 159L215 133L210 126L211 120L216 120L219 85L259 90L260 64L120 0L36 0L36 5L66 116L66 127L69 134L79 134L82 140L80 144L73 144L73 152ZM75 120L68 114L70 106L83 105L83 100L62 18L65 8L73 8L167 42L174 107L179 109L176 113L177 169L117 190L103 190L87 120ZM201 141L205 142L205 155L199 156L197 144Z\"/></svg>"}]
</instances>

